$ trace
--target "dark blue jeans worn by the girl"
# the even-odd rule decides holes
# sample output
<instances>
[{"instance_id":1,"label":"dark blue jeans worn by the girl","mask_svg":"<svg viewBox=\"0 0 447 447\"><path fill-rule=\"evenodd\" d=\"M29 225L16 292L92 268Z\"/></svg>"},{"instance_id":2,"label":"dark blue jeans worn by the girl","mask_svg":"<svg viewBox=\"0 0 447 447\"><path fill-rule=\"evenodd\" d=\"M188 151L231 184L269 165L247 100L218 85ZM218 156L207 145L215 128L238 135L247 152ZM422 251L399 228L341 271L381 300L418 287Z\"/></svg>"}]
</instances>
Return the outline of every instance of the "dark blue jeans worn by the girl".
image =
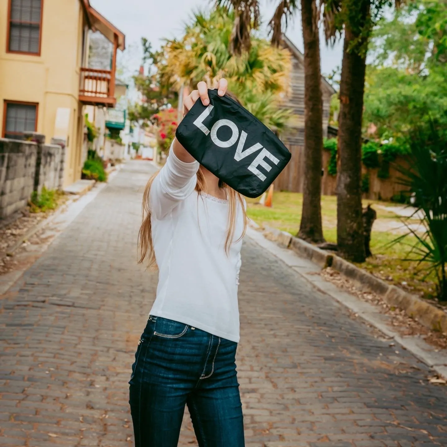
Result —
<instances>
[{"instance_id":1,"label":"dark blue jeans worn by the girl","mask_svg":"<svg viewBox=\"0 0 447 447\"><path fill-rule=\"evenodd\" d=\"M199 447L244 447L237 343L149 316L132 366L136 447L176 447L185 405Z\"/></svg>"}]
</instances>

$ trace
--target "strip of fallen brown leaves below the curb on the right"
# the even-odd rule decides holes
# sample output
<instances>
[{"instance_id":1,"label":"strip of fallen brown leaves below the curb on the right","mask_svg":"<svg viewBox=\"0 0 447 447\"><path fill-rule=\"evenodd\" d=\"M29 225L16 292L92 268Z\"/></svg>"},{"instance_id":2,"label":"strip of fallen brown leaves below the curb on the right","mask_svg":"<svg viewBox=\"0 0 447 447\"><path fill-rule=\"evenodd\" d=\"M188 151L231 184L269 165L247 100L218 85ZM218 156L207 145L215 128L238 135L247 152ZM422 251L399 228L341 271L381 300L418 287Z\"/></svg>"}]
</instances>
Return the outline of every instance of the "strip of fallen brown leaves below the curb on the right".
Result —
<instances>
[{"instance_id":1,"label":"strip of fallen brown leaves below the curb on the right","mask_svg":"<svg viewBox=\"0 0 447 447\"><path fill-rule=\"evenodd\" d=\"M322 270L320 275L338 288L380 308L382 313L390 317L393 329L401 335L420 336L438 349L447 349L446 333L433 332L418 321L413 320L405 311L390 306L379 295L358 290L352 281L330 267Z\"/></svg>"}]
</instances>

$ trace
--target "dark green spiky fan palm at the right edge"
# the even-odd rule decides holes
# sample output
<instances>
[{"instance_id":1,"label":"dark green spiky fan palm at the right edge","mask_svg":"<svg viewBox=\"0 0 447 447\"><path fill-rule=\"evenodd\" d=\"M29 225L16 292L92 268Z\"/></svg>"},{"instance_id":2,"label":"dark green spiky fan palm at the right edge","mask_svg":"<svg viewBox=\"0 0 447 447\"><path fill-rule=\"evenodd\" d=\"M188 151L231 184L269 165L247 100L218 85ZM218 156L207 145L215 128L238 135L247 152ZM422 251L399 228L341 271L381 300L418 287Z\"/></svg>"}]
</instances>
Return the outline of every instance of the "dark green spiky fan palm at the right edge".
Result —
<instances>
[{"instance_id":1,"label":"dark green spiky fan palm at the right edge","mask_svg":"<svg viewBox=\"0 0 447 447\"><path fill-rule=\"evenodd\" d=\"M447 132L433 123L428 131L415 132L409 166L396 165L402 174L399 182L415 195L416 210L412 217L422 213L425 231L420 234L405 221L408 233L392 243L409 235L416 238L405 261L428 265L426 274L434 273L437 279L438 299L447 301Z\"/></svg>"}]
</instances>

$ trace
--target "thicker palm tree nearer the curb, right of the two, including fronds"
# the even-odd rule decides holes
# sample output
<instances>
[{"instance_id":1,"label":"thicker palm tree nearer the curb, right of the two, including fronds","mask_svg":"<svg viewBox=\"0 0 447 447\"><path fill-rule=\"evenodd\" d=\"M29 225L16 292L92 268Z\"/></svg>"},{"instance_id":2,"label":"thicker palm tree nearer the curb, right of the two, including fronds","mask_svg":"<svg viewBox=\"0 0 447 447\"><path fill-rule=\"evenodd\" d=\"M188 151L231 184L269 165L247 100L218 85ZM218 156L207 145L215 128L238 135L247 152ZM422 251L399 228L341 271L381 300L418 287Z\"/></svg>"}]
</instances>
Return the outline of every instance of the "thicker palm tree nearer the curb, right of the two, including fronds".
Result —
<instances>
[{"instance_id":1,"label":"thicker palm tree nearer the curb, right of the two, including fronds","mask_svg":"<svg viewBox=\"0 0 447 447\"><path fill-rule=\"evenodd\" d=\"M366 56L372 29L391 0L323 0L326 39L342 32L338 126L337 245L343 257L366 259L362 222L362 117ZM394 0L396 7L403 0Z\"/></svg>"}]
</instances>

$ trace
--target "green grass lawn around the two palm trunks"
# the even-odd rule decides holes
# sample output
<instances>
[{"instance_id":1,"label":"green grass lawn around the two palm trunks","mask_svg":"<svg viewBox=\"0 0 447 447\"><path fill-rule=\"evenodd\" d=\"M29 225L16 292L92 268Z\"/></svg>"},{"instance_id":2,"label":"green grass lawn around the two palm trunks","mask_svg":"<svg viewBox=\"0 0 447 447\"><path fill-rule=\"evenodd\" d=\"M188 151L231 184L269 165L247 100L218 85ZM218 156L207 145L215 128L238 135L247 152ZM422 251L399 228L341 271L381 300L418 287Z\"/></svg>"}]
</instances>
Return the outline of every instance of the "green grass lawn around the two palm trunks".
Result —
<instances>
[{"instance_id":1,"label":"green grass lawn around the two palm trunks","mask_svg":"<svg viewBox=\"0 0 447 447\"><path fill-rule=\"evenodd\" d=\"M247 199L247 214L259 225L268 225L296 235L299 231L303 195L289 192L275 192L273 207L267 208L256 204L257 199ZM426 298L432 298L435 292L433 277L424 278L424 268L417 262L402 261L406 258L410 245L415 242L414 236L408 236L404 243L390 245L399 236L392 232L389 223L400 221L394 212L383 210L381 207L395 207L396 203L375 202L364 200L363 206L370 203L377 212L371 232L371 252L373 257L358 266L370 271L376 276L393 284L400 285ZM322 196L321 213L323 233L328 242L337 242L337 198ZM417 223L417 221L415 220Z\"/></svg>"}]
</instances>

